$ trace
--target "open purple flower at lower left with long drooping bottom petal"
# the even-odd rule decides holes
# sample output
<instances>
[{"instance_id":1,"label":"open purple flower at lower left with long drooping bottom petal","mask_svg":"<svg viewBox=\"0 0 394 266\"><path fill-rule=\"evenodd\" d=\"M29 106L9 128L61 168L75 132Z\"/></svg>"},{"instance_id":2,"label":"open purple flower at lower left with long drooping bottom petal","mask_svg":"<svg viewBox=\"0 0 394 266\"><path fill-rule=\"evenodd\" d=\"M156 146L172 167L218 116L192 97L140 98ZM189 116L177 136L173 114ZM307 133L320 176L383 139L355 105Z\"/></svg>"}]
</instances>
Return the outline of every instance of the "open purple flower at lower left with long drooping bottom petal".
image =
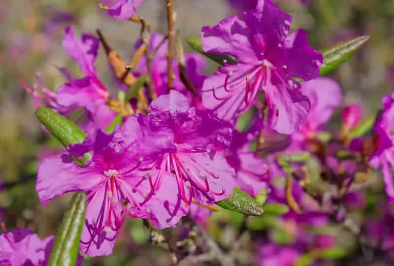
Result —
<instances>
[{"instance_id":1,"label":"open purple flower at lower left with long drooping bottom petal","mask_svg":"<svg viewBox=\"0 0 394 266\"><path fill-rule=\"evenodd\" d=\"M63 154L44 159L38 168L36 190L41 203L71 191L87 193L80 248L90 256L112 253L128 215L150 219L159 228L173 226L185 215L167 211L178 199L168 193L176 190L175 181L164 174L168 180L163 190L154 193L145 177L147 166L136 152L138 144L129 146L125 152L119 143L122 139L114 138L114 134L92 130L83 144L68 147L74 157L93 152L86 166L75 164L69 155Z\"/></svg>"}]
</instances>

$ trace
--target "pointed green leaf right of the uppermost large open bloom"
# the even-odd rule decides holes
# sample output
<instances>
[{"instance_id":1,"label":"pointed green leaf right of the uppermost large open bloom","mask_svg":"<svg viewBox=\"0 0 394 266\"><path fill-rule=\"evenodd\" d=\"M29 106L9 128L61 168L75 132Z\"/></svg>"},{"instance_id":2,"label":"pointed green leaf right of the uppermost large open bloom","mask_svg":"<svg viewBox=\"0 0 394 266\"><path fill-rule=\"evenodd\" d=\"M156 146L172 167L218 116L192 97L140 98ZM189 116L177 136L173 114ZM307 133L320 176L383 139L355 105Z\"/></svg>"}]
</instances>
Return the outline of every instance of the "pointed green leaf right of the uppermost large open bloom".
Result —
<instances>
[{"instance_id":1,"label":"pointed green leaf right of the uppermost large open bloom","mask_svg":"<svg viewBox=\"0 0 394 266\"><path fill-rule=\"evenodd\" d=\"M369 39L368 35L358 36L354 39L334 44L321 51L324 57L323 65L320 66L320 74L324 75L341 65L359 50Z\"/></svg>"}]
</instances>

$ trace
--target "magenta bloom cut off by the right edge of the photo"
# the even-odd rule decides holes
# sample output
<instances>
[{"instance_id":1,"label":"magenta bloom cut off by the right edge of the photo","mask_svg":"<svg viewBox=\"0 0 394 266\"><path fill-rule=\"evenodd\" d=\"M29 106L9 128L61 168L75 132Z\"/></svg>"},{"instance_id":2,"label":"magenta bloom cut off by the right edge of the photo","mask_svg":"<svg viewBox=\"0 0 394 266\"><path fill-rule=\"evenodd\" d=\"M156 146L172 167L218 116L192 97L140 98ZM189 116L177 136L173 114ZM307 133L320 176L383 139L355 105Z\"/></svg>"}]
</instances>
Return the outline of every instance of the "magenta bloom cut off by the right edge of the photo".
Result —
<instances>
[{"instance_id":1,"label":"magenta bloom cut off by the right edge of the photo","mask_svg":"<svg viewBox=\"0 0 394 266\"><path fill-rule=\"evenodd\" d=\"M369 163L375 169L382 167L383 181L386 187L386 193L390 202L394 203L394 93L383 97L383 112L376 121L374 131L376 133L375 154L369 160Z\"/></svg>"}]
</instances>

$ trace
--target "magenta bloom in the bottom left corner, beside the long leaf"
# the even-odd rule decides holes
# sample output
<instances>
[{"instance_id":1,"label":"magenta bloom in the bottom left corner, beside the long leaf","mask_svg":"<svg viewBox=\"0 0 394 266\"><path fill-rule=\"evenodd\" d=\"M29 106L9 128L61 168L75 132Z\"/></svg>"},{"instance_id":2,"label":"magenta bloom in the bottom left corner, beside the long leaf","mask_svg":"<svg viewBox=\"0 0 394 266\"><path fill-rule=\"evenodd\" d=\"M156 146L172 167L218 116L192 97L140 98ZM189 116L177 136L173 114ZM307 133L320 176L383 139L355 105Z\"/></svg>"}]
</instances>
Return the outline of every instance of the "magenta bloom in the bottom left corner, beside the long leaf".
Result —
<instances>
[{"instance_id":1,"label":"magenta bloom in the bottom left corner, beside the long leaf","mask_svg":"<svg viewBox=\"0 0 394 266\"><path fill-rule=\"evenodd\" d=\"M0 235L0 265L45 266L52 249L54 236L41 240L29 229L15 229Z\"/></svg>"}]
</instances>

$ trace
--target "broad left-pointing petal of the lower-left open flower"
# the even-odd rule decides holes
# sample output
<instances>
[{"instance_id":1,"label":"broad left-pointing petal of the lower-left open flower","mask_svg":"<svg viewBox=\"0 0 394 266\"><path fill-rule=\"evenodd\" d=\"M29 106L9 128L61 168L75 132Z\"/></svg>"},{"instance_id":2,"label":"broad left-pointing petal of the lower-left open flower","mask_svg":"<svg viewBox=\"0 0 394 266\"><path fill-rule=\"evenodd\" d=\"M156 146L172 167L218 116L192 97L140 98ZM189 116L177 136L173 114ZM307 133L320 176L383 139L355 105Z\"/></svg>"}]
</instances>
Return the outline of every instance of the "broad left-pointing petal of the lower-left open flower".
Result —
<instances>
[{"instance_id":1,"label":"broad left-pointing petal of the lower-left open flower","mask_svg":"<svg viewBox=\"0 0 394 266\"><path fill-rule=\"evenodd\" d=\"M68 155L45 158L38 167L36 190L42 204L71 191L89 191L102 173L77 166Z\"/></svg>"}]
</instances>

